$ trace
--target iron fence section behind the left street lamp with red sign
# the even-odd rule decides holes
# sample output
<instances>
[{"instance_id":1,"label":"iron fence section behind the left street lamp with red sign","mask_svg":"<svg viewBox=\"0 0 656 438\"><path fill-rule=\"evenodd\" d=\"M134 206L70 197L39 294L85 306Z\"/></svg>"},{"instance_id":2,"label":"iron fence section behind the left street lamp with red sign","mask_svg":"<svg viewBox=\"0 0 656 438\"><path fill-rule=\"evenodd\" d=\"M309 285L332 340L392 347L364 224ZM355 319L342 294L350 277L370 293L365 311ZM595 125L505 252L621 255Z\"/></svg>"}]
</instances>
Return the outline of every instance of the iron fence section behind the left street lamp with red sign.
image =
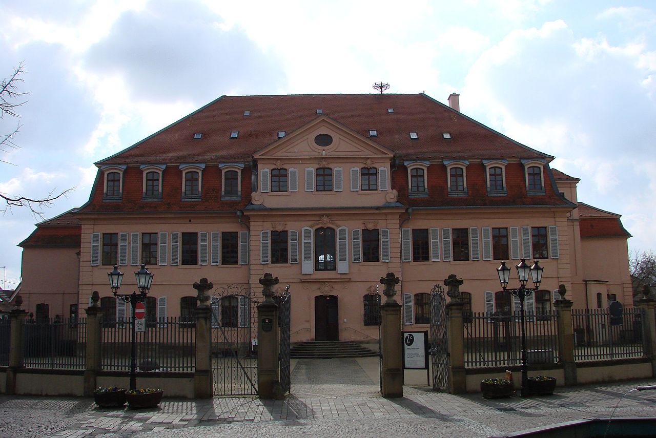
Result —
<instances>
[{"instance_id":1,"label":"iron fence section behind the left street lamp with red sign","mask_svg":"<svg viewBox=\"0 0 656 438\"><path fill-rule=\"evenodd\" d=\"M180 317L146 323L146 331L136 333L137 371L193 372L195 329L194 321ZM131 348L131 320L102 324L100 366L103 370L129 371Z\"/></svg>"}]
</instances>

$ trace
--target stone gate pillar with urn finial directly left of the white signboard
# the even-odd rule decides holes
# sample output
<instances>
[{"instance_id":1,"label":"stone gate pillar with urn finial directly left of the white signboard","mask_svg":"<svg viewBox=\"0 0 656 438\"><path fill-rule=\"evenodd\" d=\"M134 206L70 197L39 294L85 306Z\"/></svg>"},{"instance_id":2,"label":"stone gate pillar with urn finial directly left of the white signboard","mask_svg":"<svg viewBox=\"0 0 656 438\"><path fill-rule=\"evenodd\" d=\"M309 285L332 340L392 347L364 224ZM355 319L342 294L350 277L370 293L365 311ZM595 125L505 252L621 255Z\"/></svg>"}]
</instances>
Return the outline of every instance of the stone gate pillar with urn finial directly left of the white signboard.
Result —
<instances>
[{"instance_id":1,"label":"stone gate pillar with urn finial directly left of the white signboard","mask_svg":"<svg viewBox=\"0 0 656 438\"><path fill-rule=\"evenodd\" d=\"M382 293L387 297L380 306L380 353L382 354L383 397L403 397L403 333L401 331L401 305L394 300L399 279L392 272L380 277Z\"/></svg>"}]
</instances>

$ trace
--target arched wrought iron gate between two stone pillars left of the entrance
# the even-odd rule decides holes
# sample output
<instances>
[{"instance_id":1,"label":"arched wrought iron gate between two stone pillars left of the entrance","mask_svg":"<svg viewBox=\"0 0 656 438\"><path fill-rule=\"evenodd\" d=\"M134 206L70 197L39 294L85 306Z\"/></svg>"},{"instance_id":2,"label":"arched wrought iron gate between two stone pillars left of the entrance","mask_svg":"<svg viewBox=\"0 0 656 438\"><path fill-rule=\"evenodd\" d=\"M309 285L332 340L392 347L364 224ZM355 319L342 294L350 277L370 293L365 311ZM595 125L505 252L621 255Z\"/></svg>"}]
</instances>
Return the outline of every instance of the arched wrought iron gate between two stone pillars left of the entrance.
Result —
<instances>
[{"instance_id":1,"label":"arched wrought iron gate between two stone pillars left of the entrance","mask_svg":"<svg viewBox=\"0 0 656 438\"><path fill-rule=\"evenodd\" d=\"M211 301L214 395L257 395L257 304L249 285L215 289Z\"/></svg>"}]
</instances>

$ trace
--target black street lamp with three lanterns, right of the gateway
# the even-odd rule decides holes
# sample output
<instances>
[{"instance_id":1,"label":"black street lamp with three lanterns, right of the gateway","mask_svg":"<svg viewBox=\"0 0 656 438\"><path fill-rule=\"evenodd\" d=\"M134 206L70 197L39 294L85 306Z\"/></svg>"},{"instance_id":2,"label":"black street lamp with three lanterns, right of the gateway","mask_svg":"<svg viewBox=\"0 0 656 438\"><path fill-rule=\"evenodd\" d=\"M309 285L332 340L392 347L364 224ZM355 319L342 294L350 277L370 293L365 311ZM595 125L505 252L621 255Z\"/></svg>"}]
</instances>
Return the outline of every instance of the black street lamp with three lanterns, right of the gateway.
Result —
<instances>
[{"instance_id":1,"label":"black street lamp with three lanterns, right of the gateway","mask_svg":"<svg viewBox=\"0 0 656 438\"><path fill-rule=\"evenodd\" d=\"M499 283L504 291L510 292L512 296L516 296L520 299L520 321L522 321L522 389L520 394L522 397L529 396L529 376L526 365L526 329L525 329L525 311L524 311L524 298L535 292L539 287L542 281L542 271L544 268L541 268L537 264L537 260L533 262L533 266L528 266L525 262L525 259L522 258L522 261L516 266L517 275L520 277L520 287L518 289L508 289L508 279L510 279L510 268L506 266L506 262L501 262L501 266L497 268L497 274L499 274ZM531 280L533 280L533 289L526 287L526 283L529 281L529 273L531 273Z\"/></svg>"}]
</instances>

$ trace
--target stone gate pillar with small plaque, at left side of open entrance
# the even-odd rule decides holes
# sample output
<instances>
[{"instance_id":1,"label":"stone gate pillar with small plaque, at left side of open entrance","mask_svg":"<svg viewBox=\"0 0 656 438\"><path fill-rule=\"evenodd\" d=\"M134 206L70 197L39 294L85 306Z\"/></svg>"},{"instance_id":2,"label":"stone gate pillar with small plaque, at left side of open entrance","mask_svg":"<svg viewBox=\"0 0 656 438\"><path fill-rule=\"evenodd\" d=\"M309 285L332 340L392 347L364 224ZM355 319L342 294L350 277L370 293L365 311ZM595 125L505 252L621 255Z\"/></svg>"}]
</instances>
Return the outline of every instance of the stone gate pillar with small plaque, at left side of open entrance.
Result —
<instances>
[{"instance_id":1,"label":"stone gate pillar with small plaque, at left side of open entrance","mask_svg":"<svg viewBox=\"0 0 656 438\"><path fill-rule=\"evenodd\" d=\"M274 285L278 277L265 273L260 278L264 301L257 306L257 393L260 399L281 398L278 362L278 305L274 302Z\"/></svg>"}]
</instances>

